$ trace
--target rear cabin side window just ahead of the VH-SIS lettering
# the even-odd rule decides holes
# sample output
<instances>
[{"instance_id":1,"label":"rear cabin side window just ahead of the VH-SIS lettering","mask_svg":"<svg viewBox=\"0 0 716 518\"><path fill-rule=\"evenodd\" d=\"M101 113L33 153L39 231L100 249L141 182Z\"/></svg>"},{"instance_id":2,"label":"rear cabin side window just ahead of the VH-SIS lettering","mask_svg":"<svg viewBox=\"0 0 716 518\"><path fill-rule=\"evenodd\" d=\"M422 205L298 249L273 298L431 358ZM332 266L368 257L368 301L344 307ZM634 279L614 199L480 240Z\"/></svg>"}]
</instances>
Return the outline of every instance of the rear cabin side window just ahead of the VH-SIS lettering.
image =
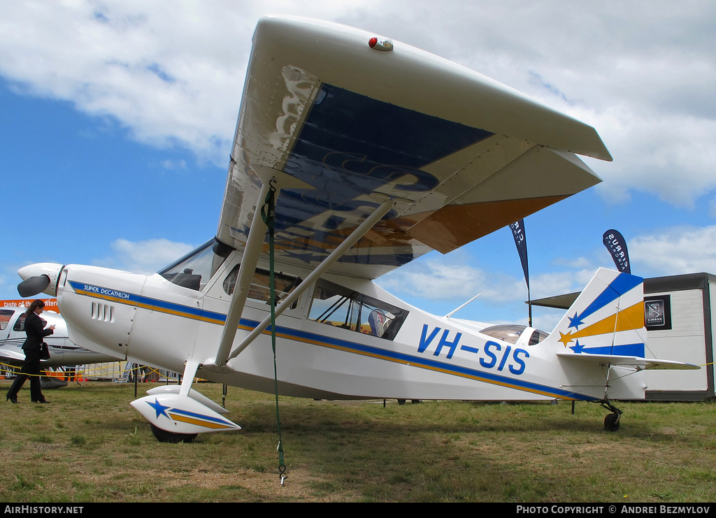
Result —
<instances>
[{"instance_id":1,"label":"rear cabin side window just ahead of the VH-SIS lettering","mask_svg":"<svg viewBox=\"0 0 716 518\"><path fill-rule=\"evenodd\" d=\"M316 283L309 319L392 340L408 311L328 280Z\"/></svg>"}]
</instances>

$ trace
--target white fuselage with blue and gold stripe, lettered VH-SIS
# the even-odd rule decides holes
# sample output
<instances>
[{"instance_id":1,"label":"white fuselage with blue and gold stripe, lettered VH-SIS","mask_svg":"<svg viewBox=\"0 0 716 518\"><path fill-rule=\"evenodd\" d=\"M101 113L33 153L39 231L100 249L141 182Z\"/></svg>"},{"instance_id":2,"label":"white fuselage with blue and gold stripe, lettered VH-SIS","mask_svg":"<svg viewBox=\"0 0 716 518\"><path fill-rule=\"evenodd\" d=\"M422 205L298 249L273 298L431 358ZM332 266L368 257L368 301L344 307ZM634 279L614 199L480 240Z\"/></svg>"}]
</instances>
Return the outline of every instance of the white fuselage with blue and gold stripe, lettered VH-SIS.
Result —
<instances>
[{"instance_id":1,"label":"white fuselage with blue and gold stripe, lettered VH-SIS","mask_svg":"<svg viewBox=\"0 0 716 518\"><path fill-rule=\"evenodd\" d=\"M220 261L215 257L211 275L184 268L192 261L178 263L179 273L165 270L163 275L64 266L57 297L70 338L170 371L182 372L193 359L208 365L198 371L200 378L274 391L269 330L228 365L213 363L241 253ZM263 266L259 263L256 270L235 346L270 311ZM276 265L276 271L282 279L277 284L287 289L292 278L310 273L289 265ZM180 274L189 280L178 280ZM553 346L529 346L528 336L515 343L493 338L474 323L432 316L372 281L345 275L326 274L306 290L278 318L276 335L279 391L290 396L601 400L605 394L606 367L575 368L559 361ZM623 383L614 383L609 395L639 396Z\"/></svg>"}]
</instances>

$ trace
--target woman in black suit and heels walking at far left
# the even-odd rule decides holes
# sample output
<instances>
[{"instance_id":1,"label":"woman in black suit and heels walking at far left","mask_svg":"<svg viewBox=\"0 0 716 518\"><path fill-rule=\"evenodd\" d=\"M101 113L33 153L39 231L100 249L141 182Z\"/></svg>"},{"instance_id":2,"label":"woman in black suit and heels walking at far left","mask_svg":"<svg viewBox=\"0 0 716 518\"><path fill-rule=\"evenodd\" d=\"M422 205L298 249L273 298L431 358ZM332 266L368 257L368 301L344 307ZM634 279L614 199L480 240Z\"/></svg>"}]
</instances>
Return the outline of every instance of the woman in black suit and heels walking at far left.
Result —
<instances>
[{"instance_id":1,"label":"woman in black suit and heels walking at far left","mask_svg":"<svg viewBox=\"0 0 716 518\"><path fill-rule=\"evenodd\" d=\"M22 350L25 351L25 363L7 393L7 401L17 403L17 393L26 379L30 378L30 399L34 403L49 402L44 399L40 388L40 349L42 348L42 339L54 333L54 324L44 329L45 323L40 318L40 313L43 310L44 302L33 300L25 312L24 325L27 338L22 345Z\"/></svg>"}]
</instances>

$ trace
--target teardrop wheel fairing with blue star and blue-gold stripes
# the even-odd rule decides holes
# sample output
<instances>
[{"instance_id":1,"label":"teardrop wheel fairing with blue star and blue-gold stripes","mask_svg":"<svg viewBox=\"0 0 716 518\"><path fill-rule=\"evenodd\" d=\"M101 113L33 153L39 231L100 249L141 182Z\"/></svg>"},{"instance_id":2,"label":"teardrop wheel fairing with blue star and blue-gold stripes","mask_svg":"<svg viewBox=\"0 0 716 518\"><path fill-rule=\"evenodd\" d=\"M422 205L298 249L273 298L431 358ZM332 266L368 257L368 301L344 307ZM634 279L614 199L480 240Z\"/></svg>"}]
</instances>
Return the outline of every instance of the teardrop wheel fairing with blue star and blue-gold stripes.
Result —
<instances>
[{"instance_id":1,"label":"teardrop wheel fairing with blue star and blue-gold stripes","mask_svg":"<svg viewBox=\"0 0 716 518\"><path fill-rule=\"evenodd\" d=\"M241 430L238 424L188 396L151 394L132 401L131 405L151 424L173 434Z\"/></svg>"}]
</instances>

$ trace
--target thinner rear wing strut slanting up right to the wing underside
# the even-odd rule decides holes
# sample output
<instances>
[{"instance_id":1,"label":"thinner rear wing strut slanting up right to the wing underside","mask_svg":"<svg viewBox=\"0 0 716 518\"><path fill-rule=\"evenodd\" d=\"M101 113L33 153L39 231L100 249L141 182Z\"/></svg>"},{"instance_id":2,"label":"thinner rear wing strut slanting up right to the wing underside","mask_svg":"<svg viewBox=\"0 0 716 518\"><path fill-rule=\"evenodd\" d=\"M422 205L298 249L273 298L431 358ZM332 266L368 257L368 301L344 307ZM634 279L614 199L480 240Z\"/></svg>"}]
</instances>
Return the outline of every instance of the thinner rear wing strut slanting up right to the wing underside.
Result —
<instances>
[{"instance_id":1,"label":"thinner rear wing strut slanting up right to the wing underside","mask_svg":"<svg viewBox=\"0 0 716 518\"><path fill-rule=\"evenodd\" d=\"M299 284L296 286L296 289L291 291L289 296L284 298L284 300L281 301L281 304L278 308L276 308L276 317L281 315L281 313L284 313L286 308L290 308L291 304L294 303L294 300L299 298L302 293L306 290L306 288L309 288L316 279L318 279L321 275L323 275L326 270L328 270L333 263L335 263L337 260L339 260L344 253L346 253L349 248L351 248L357 240L362 238L368 230L373 228L373 226L378 223L381 218L386 215L395 205L395 202L393 200L386 200L382 202L382 204L377 207L376 210L372 212L371 215L369 215L363 223L358 225L356 230L354 230L351 235L349 235L343 243L338 245L338 247L333 250L332 253L328 257L326 257L320 265L316 267L315 270L313 270L309 275ZM263 222L261 222L263 223ZM243 267L243 263L241 263L241 266ZM251 333L248 333L248 336L241 341L241 343L236 346L236 348L231 352L231 355L227 358L226 363L228 363L229 360L236 358L241 351L243 351L246 346L248 346L249 343L251 343L258 335L263 333L263 331L266 331L266 328L269 327L269 324L271 324L271 315L266 316L266 318L261 321L261 323L256 326L256 328L251 331ZM237 322L238 325L238 322ZM227 319L227 326L228 326L228 319ZM236 329L234 331L236 333Z\"/></svg>"}]
</instances>

